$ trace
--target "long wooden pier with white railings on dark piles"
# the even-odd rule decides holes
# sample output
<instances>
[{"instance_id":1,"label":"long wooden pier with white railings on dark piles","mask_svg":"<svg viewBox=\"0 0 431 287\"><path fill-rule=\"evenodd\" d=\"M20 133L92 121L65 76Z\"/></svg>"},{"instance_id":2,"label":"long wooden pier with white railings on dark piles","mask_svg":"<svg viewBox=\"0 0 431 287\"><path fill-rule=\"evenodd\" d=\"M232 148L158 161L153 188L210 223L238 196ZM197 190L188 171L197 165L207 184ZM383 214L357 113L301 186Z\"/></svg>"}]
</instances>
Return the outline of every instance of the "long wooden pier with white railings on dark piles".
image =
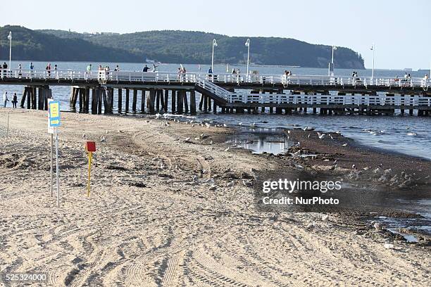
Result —
<instances>
[{"instance_id":1,"label":"long wooden pier with white railings on dark piles","mask_svg":"<svg viewBox=\"0 0 431 287\"><path fill-rule=\"evenodd\" d=\"M308 75L11 70L0 84L23 85L21 108L46 109L50 87L70 86L79 113L295 112L430 115L431 81ZM196 98L196 93L197 97ZM79 106L78 106L79 105ZM416 113L415 113L416 112Z\"/></svg>"}]
</instances>

